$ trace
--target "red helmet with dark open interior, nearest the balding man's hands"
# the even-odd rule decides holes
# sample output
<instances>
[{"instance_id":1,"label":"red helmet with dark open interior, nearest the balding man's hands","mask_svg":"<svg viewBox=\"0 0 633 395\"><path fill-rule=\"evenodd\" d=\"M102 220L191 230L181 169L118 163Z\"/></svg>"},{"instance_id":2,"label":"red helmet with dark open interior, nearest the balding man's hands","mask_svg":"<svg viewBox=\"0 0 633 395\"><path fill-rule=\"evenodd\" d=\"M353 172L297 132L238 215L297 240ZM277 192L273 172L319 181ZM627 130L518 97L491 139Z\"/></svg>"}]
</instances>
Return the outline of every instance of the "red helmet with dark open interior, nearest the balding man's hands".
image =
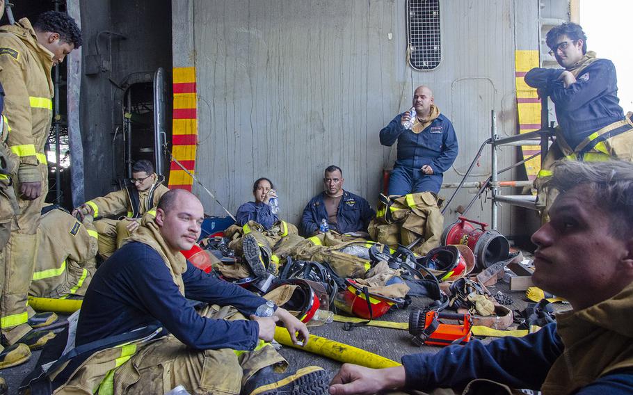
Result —
<instances>
[{"instance_id":1,"label":"red helmet with dark open interior, nearest the balding man's hands","mask_svg":"<svg viewBox=\"0 0 633 395\"><path fill-rule=\"evenodd\" d=\"M280 307L287 309L289 312L298 312L297 318L303 323L310 321L316 310L328 310L330 300L323 284L303 278L289 278L280 280L269 291L284 285L296 285L297 287L294 289L290 299Z\"/></svg>"}]
</instances>

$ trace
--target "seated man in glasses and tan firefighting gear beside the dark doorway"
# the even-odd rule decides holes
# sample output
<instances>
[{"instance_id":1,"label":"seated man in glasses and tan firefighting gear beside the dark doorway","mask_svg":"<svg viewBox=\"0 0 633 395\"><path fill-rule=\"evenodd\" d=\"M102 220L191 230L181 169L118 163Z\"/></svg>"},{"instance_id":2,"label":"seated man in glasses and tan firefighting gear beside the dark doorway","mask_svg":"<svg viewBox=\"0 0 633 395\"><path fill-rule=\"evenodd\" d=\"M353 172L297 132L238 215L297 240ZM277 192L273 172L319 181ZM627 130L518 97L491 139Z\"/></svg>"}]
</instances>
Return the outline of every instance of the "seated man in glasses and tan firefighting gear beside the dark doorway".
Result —
<instances>
[{"instance_id":1,"label":"seated man in glasses and tan firefighting gear beside the dark doorway","mask_svg":"<svg viewBox=\"0 0 633 395\"><path fill-rule=\"evenodd\" d=\"M123 240L136 231L143 214L156 207L161 196L169 191L162 184L164 179L154 172L152 162L141 159L132 166L132 177L125 188L88 200L72 211L81 220L86 215L102 217L95 221L95 228L103 259L120 248Z\"/></svg>"}]
</instances>

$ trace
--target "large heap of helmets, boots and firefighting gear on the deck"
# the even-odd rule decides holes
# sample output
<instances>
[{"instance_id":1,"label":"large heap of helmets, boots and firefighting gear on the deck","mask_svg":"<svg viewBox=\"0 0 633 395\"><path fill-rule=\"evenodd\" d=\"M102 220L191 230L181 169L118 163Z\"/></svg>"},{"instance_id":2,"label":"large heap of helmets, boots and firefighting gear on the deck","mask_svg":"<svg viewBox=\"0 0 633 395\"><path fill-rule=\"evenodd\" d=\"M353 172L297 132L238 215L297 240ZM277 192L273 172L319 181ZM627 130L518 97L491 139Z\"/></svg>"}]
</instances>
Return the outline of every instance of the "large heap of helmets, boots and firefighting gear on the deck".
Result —
<instances>
[{"instance_id":1,"label":"large heap of helmets, boots and firefighting gear on the deck","mask_svg":"<svg viewBox=\"0 0 633 395\"><path fill-rule=\"evenodd\" d=\"M397 204L394 202L392 207ZM261 234L256 237L255 232L251 233L257 230L256 223L242 228L233 226L225 234L205 237L199 246L184 254L207 273L274 300L308 325L331 322L333 312L371 321L392 308L406 309L412 297L430 300L410 314L410 332L418 342L463 343L470 339L472 325L504 330L513 323L513 312L504 305L511 300L508 302L499 292L493 296L472 275L509 255L508 241L498 232L486 230L484 223L459 218L444 229L441 240L445 245L431 248L424 255L399 243L344 240L335 234L319 235L318 239L297 236L296 241L289 243L287 236L293 232L283 230L284 226L266 231L266 243ZM282 233L284 236L280 236ZM269 247L271 243L273 248ZM280 253L279 246L284 244L293 248ZM319 248L366 262L364 273L350 275L358 271L342 269L328 259L295 258L301 257L304 250ZM442 320L456 320L458 324ZM347 323L346 329L368 321Z\"/></svg>"}]
</instances>

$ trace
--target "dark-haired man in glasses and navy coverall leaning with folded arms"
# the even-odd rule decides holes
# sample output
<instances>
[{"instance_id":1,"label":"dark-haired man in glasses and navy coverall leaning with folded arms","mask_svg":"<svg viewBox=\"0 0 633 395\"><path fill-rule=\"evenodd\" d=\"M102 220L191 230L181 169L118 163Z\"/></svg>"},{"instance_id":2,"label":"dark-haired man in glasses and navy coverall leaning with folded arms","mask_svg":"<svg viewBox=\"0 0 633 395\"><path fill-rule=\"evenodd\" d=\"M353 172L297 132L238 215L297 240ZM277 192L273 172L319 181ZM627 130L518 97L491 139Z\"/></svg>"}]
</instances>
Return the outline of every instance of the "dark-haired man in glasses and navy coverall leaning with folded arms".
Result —
<instances>
[{"instance_id":1,"label":"dark-haired man in glasses and navy coverall leaning with folded arms","mask_svg":"<svg viewBox=\"0 0 633 395\"><path fill-rule=\"evenodd\" d=\"M572 22L555 26L547 32L550 55L561 69L535 67L525 75L525 82L537 88L541 97L552 99L556 106L556 142L545 157L535 186L537 206L547 211L555 196L543 188L551 177L552 165L559 159L631 161L633 155L633 122L625 117L618 99L616 67L608 59L587 51L582 27Z\"/></svg>"}]
</instances>

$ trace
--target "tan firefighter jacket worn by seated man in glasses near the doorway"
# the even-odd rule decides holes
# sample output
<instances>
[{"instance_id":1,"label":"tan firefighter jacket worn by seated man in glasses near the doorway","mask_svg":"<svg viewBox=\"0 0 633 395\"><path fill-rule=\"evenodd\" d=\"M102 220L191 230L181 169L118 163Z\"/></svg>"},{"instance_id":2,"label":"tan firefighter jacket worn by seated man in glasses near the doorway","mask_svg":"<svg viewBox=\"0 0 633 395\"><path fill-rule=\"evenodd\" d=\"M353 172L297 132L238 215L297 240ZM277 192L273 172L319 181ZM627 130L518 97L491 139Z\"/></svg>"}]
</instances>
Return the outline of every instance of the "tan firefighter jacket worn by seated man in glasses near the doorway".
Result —
<instances>
[{"instance_id":1,"label":"tan firefighter jacket worn by seated man in glasses near the doorway","mask_svg":"<svg viewBox=\"0 0 633 395\"><path fill-rule=\"evenodd\" d=\"M134 185L123 188L120 191L108 193L105 196L86 202L93 209L93 216L141 218L143 214L156 207L161 196L169 189L162 184L165 177L157 177L157 181L147 189L138 192Z\"/></svg>"}]
</instances>

